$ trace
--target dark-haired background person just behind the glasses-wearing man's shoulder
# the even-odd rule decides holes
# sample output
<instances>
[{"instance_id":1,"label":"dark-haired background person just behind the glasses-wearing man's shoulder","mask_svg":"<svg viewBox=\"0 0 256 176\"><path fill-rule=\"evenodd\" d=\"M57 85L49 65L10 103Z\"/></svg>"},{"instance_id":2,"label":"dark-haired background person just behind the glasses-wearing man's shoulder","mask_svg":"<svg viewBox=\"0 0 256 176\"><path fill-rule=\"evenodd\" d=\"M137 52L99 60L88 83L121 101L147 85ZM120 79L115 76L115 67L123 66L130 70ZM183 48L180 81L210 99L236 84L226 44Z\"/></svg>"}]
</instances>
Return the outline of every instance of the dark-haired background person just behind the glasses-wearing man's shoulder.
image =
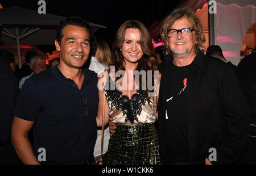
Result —
<instances>
[{"instance_id":1,"label":"dark-haired background person just behind the glasses-wearing man's shoulder","mask_svg":"<svg viewBox=\"0 0 256 176\"><path fill-rule=\"evenodd\" d=\"M223 53L222 53L222 49L219 45L209 46L207 48L207 54L206 55L219 58L220 60L226 62L226 64L228 64L228 66L230 66L230 68L233 68L234 70L236 70L236 68L237 68L236 65L233 65L232 62L227 61L225 59L225 57L223 56Z\"/></svg>"}]
</instances>

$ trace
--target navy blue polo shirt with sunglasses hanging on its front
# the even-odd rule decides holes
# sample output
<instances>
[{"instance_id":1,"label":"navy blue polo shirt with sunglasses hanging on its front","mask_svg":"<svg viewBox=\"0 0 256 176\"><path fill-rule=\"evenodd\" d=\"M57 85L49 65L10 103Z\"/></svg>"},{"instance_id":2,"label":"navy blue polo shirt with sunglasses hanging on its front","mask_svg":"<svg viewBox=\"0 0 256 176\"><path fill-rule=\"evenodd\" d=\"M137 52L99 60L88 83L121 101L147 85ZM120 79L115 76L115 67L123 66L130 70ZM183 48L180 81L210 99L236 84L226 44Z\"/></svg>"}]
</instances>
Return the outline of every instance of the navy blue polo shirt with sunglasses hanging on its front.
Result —
<instances>
[{"instance_id":1,"label":"navy blue polo shirt with sunglasses hanging on its front","mask_svg":"<svg viewBox=\"0 0 256 176\"><path fill-rule=\"evenodd\" d=\"M82 164L93 153L97 135L97 74L82 70L81 90L67 79L57 66L27 79L15 106L14 115L35 121L34 153L38 158L46 151L41 164ZM82 118L84 105L88 116ZM39 157L42 157L40 155Z\"/></svg>"}]
</instances>

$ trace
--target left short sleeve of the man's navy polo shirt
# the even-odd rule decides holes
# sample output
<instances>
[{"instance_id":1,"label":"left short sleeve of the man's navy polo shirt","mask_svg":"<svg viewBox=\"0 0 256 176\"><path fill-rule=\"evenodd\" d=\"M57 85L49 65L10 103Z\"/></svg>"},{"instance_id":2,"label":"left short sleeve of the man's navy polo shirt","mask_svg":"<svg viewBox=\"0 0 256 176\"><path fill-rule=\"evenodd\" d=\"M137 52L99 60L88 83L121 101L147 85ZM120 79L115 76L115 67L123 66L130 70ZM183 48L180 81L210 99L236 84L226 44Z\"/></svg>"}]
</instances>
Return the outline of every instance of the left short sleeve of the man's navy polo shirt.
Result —
<instances>
[{"instance_id":1,"label":"left short sleeve of the man's navy polo shirt","mask_svg":"<svg viewBox=\"0 0 256 176\"><path fill-rule=\"evenodd\" d=\"M40 93L36 82L33 79L27 79L20 90L14 115L20 119L35 121L42 105Z\"/></svg>"}]
</instances>

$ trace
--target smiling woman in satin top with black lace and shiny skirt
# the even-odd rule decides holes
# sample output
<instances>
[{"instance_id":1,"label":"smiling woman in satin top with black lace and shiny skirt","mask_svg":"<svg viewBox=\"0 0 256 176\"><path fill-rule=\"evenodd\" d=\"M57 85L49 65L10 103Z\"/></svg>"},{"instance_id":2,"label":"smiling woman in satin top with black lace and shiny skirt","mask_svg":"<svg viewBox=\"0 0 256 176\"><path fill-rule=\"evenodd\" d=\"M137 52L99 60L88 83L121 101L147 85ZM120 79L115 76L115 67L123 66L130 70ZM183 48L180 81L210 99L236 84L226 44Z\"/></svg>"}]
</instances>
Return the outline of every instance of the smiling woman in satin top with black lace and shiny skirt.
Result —
<instances>
[{"instance_id":1,"label":"smiling woman in satin top with black lace and shiny skirt","mask_svg":"<svg viewBox=\"0 0 256 176\"><path fill-rule=\"evenodd\" d=\"M109 118L117 129L110 137L108 164L160 164L155 129L160 73L147 28L129 20L119 28L108 72L98 78L97 125ZM104 111L105 107L105 111Z\"/></svg>"}]
</instances>

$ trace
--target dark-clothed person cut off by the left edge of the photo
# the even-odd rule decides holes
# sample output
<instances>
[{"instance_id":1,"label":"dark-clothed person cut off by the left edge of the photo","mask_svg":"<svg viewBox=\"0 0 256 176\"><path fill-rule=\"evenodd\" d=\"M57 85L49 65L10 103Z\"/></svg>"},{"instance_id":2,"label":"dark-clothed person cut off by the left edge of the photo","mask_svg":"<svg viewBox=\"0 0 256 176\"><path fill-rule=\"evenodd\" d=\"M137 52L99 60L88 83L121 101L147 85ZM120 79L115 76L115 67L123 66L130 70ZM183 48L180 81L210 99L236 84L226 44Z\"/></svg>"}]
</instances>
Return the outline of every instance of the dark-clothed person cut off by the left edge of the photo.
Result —
<instances>
[{"instance_id":1,"label":"dark-clothed person cut off by the left edge of the photo","mask_svg":"<svg viewBox=\"0 0 256 176\"><path fill-rule=\"evenodd\" d=\"M19 93L18 81L3 56L0 56L0 165L20 164L10 140L13 111Z\"/></svg>"}]
</instances>

